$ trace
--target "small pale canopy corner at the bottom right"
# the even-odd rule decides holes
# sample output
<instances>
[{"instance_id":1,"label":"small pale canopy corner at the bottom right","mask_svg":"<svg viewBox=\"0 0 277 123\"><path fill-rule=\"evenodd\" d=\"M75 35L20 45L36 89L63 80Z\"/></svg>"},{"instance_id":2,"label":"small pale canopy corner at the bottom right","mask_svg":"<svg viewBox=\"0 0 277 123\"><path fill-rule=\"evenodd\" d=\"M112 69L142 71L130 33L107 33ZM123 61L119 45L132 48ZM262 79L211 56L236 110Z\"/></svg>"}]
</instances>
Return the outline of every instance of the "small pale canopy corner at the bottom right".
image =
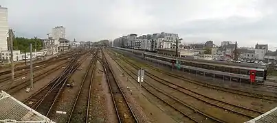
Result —
<instances>
[{"instance_id":1,"label":"small pale canopy corner at the bottom right","mask_svg":"<svg viewBox=\"0 0 277 123\"><path fill-rule=\"evenodd\" d=\"M276 123L277 107L245 123Z\"/></svg>"}]
</instances>

